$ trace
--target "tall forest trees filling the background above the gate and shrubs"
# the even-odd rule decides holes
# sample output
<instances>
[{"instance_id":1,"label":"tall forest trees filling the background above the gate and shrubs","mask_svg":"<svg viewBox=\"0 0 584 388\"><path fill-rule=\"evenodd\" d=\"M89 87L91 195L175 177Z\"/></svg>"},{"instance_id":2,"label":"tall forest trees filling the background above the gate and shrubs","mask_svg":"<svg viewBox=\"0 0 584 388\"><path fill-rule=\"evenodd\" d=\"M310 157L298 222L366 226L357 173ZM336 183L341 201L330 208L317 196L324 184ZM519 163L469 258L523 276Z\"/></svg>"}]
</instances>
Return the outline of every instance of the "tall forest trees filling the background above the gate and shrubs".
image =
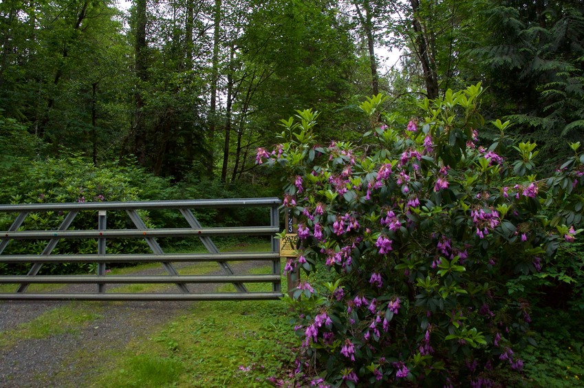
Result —
<instances>
[{"instance_id":1,"label":"tall forest trees filling the background above the gate and shrubs","mask_svg":"<svg viewBox=\"0 0 584 388\"><path fill-rule=\"evenodd\" d=\"M323 140L352 140L367 129L365 96L382 92L407 117L477 82L487 119L509 118L511 136L559 160L584 126L583 12L544 0L5 0L1 161L75 153L174 182L256 182L253 150L295 109L323 112Z\"/></svg>"}]
</instances>

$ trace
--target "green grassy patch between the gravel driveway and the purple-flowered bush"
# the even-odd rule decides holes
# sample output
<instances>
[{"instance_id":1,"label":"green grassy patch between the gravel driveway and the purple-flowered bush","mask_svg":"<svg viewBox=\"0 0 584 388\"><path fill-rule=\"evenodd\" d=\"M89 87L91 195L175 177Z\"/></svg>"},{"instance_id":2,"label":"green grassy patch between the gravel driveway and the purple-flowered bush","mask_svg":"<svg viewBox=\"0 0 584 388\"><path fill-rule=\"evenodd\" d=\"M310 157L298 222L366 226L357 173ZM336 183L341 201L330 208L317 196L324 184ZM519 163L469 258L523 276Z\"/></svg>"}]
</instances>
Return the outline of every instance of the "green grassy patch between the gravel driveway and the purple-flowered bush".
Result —
<instances>
[{"instance_id":1,"label":"green grassy patch between the gravel driveway and the purple-flowered bush","mask_svg":"<svg viewBox=\"0 0 584 388\"><path fill-rule=\"evenodd\" d=\"M266 267L252 273L269 271ZM250 291L259 288L259 284L248 285ZM140 354L182 363L184 369L177 378L161 386L271 387L268 378L281 376L295 359L298 342L287 313L288 306L282 301L193 303L188 314L113 360L118 367L101 373L95 386L140 385L139 374L131 371L133 358Z\"/></svg>"}]
</instances>

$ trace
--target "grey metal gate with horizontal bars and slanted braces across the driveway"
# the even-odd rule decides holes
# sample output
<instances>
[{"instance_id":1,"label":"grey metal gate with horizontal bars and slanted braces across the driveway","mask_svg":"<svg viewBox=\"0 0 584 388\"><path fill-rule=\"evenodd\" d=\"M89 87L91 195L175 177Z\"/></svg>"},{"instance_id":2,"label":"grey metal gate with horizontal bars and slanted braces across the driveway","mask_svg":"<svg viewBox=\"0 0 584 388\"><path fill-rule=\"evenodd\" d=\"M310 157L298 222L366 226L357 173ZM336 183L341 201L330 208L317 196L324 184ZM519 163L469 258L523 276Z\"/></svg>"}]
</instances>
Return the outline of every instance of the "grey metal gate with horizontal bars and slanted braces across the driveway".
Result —
<instances>
[{"instance_id":1,"label":"grey metal gate with horizontal bars and slanted braces across the driveway","mask_svg":"<svg viewBox=\"0 0 584 388\"><path fill-rule=\"evenodd\" d=\"M275 239L279 232L280 205L278 198L249 198L233 200L184 200L151 202L83 202L67 204L17 204L0 205L0 212L14 214L15 219L10 228L0 232L0 263L33 263L30 272L24 276L0 276L0 283L19 284L15 292L0 292L0 300L263 300L278 299L282 296L280 284L279 244ZM263 207L269 208L270 225L243 226L228 228L204 228L191 209L228 208L228 207ZM148 228L138 213L139 210L176 209L188 223L188 228L155 229ZM25 219L31 213L66 212L65 219L57 230L21 230ZM95 230L70 230L76 215L81 211L97 211L98 220ZM107 229L107 212L125 211L136 229ZM268 235L271 240L270 252L219 252L213 243L213 236L261 236ZM165 254L156 237L199 237L208 250L207 253ZM144 239L149 245L150 254L107 254L107 239L136 238ZM2 255L10 241L15 239L48 240L41 255ZM52 255L52 251L61 239L96 239L98 248L90 255ZM270 274L234 274L228 261L262 260L271 264ZM173 262L217 261L223 270L222 275L180 275ZM45 263L98 263L96 275L39 275ZM160 262L166 270L165 275L107 275L106 263L124 262ZM249 292L244 283L272 283L271 292ZM26 292L31 283L94 283L96 292ZM109 283L174 283L179 292L175 293L120 293L106 292ZM189 283L232 283L237 292L191 292Z\"/></svg>"}]
</instances>

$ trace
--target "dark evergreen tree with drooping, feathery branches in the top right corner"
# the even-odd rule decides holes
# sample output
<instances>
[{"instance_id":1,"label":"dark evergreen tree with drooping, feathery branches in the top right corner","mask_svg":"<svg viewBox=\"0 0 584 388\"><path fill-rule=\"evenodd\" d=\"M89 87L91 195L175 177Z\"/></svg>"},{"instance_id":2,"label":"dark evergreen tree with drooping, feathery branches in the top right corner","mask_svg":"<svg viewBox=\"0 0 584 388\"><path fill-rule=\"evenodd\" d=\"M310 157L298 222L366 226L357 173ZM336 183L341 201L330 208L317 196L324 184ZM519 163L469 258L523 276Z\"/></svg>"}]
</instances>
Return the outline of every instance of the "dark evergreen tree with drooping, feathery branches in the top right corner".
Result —
<instances>
[{"instance_id":1,"label":"dark evergreen tree with drooping, feathery branches in the top right corner","mask_svg":"<svg viewBox=\"0 0 584 388\"><path fill-rule=\"evenodd\" d=\"M584 140L584 4L499 0L473 51L484 65L493 108L550 151Z\"/></svg>"}]
</instances>

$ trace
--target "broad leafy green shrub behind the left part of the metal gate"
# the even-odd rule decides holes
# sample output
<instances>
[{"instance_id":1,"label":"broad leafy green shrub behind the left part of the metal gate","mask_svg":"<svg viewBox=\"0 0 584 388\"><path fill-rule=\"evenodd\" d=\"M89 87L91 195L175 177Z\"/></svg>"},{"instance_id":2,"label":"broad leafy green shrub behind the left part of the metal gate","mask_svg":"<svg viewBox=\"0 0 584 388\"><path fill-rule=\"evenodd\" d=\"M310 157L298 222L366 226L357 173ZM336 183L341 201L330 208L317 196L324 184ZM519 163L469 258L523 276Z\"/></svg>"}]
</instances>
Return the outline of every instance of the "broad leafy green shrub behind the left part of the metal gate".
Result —
<instances>
[{"instance_id":1,"label":"broad leafy green shrub behind the left part of the metal gate","mask_svg":"<svg viewBox=\"0 0 584 388\"><path fill-rule=\"evenodd\" d=\"M32 160L17 166L18 171L7 171L0 177L3 188L1 203L63 203L63 202L102 202L135 201L140 190L131 186L133 177L127 169L117 166L97 167L78 156L67 158L47 158ZM130 170L134 173L140 171ZM147 213L141 213L149 222ZM0 213L0 229L8 230L15 214ZM30 213L25 219L25 230L57 229L65 219L64 212ZM98 226L97 211L82 211L74 219L69 229L95 229ZM107 228L135 228L125 212L108 212ZM5 254L39 255L46 241L11 241ZM138 239L116 239L108 241L108 253L147 252L145 241ZM58 242L55 254L89 254L97 252L97 241L92 239L63 239ZM41 273L88 272L95 266L90 263L59 263L43 266ZM1 264L0 274L23 274L30 264Z\"/></svg>"}]
</instances>

